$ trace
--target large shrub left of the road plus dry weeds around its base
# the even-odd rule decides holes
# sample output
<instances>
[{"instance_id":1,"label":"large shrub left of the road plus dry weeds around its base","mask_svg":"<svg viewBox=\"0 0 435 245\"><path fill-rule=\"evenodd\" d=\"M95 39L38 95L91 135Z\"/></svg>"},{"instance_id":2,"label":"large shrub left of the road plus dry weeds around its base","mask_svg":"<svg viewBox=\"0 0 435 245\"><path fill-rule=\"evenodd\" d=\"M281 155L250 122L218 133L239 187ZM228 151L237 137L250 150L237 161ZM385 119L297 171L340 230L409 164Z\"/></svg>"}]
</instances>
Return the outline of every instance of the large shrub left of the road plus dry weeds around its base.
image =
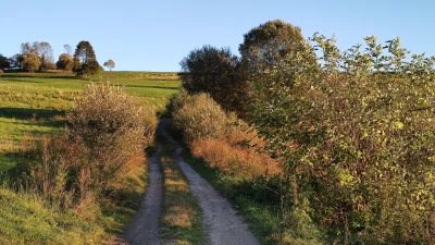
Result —
<instances>
[{"instance_id":1,"label":"large shrub left of the road plus dry weeds around its base","mask_svg":"<svg viewBox=\"0 0 435 245\"><path fill-rule=\"evenodd\" d=\"M23 155L37 160L18 164L10 175L16 176L17 188L92 217L102 195L140 193L144 148L156 127L153 111L136 105L122 87L90 84L75 102L66 131L26 147L29 152Z\"/></svg>"}]
</instances>

